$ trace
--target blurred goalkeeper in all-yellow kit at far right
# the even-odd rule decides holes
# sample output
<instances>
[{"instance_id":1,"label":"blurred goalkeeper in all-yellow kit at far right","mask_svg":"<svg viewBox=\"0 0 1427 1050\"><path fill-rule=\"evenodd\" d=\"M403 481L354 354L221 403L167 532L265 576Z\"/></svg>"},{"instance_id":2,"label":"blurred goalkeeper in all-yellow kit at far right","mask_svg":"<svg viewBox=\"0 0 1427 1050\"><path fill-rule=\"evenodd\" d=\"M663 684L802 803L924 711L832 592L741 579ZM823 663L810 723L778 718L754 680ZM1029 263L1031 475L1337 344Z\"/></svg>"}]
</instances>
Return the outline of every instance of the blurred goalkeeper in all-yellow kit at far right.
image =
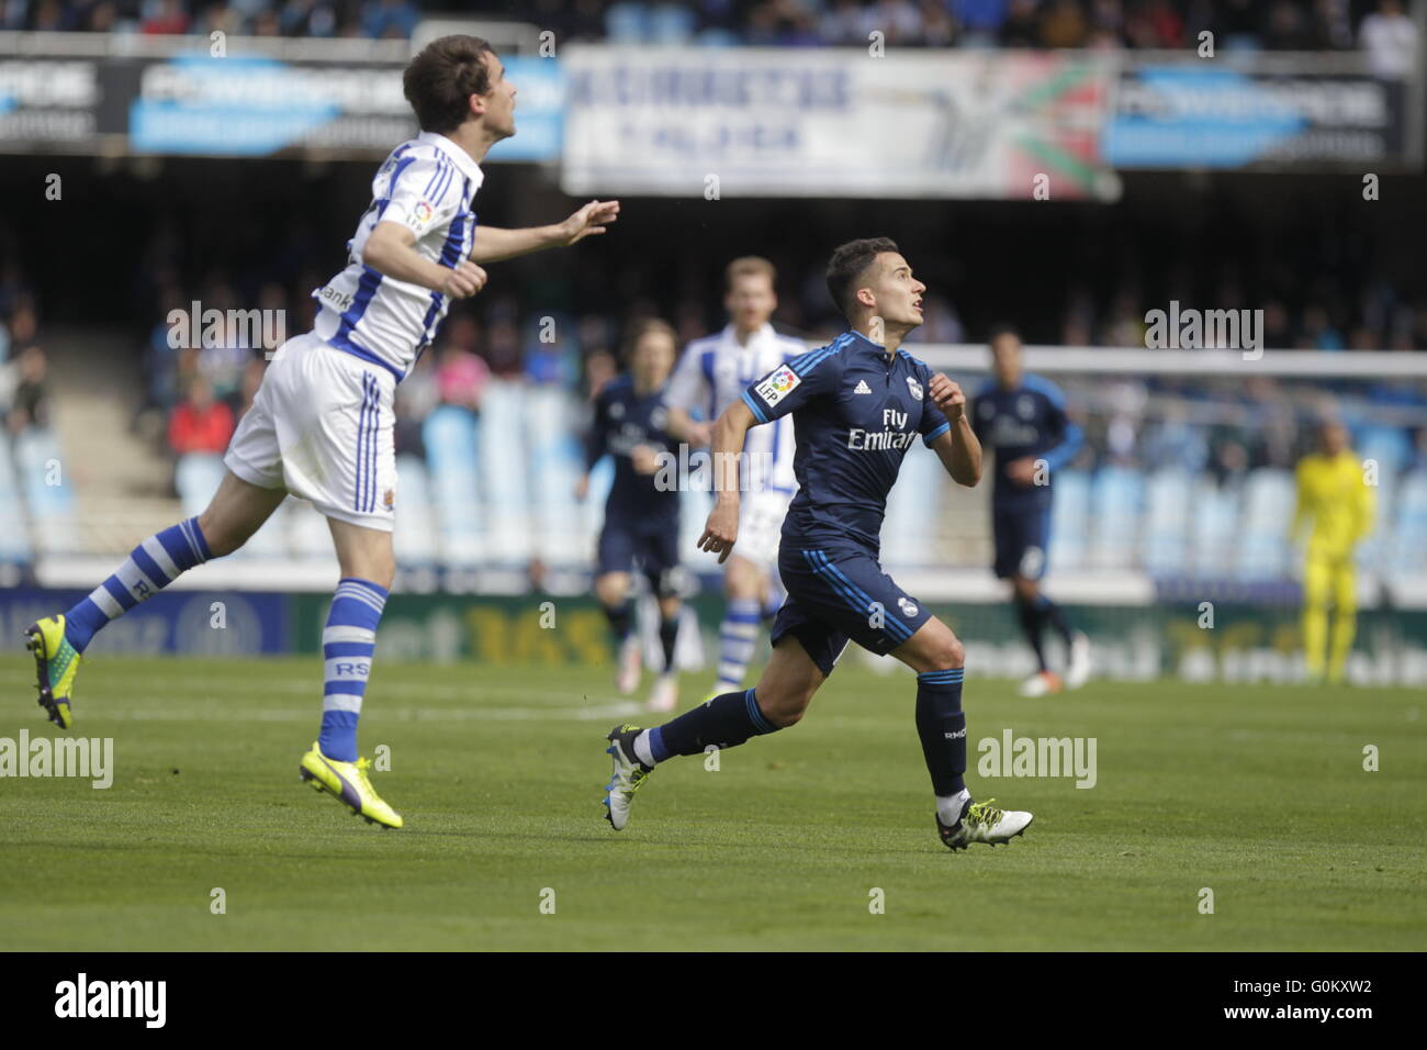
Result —
<instances>
[{"instance_id":1,"label":"blurred goalkeeper in all-yellow kit at far right","mask_svg":"<svg viewBox=\"0 0 1427 1050\"><path fill-rule=\"evenodd\" d=\"M1319 430L1321 450L1299 461L1299 500L1291 539L1301 541L1311 523L1303 569L1303 649L1309 676L1323 679L1329 647L1329 604L1334 607L1330 681L1343 680L1343 667L1357 629L1357 579L1353 550L1373 527L1373 489L1363 464L1349 447L1347 429L1329 421Z\"/></svg>"}]
</instances>

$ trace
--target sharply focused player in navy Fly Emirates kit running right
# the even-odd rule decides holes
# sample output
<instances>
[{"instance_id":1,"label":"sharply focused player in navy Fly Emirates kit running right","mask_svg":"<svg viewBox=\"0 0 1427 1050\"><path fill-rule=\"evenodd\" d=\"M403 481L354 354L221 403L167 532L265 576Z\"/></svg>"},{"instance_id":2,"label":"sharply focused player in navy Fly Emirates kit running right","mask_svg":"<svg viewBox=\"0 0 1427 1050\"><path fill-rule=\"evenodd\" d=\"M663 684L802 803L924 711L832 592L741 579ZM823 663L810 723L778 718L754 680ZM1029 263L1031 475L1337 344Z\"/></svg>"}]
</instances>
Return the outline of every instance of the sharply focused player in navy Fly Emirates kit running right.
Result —
<instances>
[{"instance_id":1,"label":"sharply focused player in navy Fly Emirates kit running right","mask_svg":"<svg viewBox=\"0 0 1427 1050\"><path fill-rule=\"evenodd\" d=\"M886 237L841 246L828 290L850 330L753 383L714 427L716 500L699 540L725 560L738 540L736 453L749 427L792 414L799 490L783 521L778 569L788 600L758 686L716 696L656 729L616 726L605 806L615 830L634 793L675 754L702 754L802 719L849 640L892 653L916 671L916 729L936 794L936 827L953 850L1009 841L1032 814L972 801L966 790L965 650L950 627L878 564L886 496L920 439L958 484L980 479L980 444L966 397L946 376L899 350L922 323L926 286Z\"/></svg>"}]
</instances>

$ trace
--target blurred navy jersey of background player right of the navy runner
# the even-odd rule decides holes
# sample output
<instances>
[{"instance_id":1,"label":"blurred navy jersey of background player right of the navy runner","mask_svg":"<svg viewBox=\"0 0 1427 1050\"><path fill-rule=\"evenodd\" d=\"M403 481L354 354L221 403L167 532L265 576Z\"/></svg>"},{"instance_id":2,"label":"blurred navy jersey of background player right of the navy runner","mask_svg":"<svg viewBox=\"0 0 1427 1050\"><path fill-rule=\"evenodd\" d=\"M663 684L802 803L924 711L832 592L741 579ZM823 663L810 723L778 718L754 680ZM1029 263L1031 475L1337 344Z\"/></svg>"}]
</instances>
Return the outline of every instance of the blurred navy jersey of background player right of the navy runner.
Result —
<instances>
[{"instance_id":1,"label":"blurred navy jersey of background player right of the navy runner","mask_svg":"<svg viewBox=\"0 0 1427 1050\"><path fill-rule=\"evenodd\" d=\"M1006 390L987 383L970 407L972 430L982 449L996 453L992 500L1046 503L1056 470L1080 451L1080 427L1066 416L1066 399L1055 383L1025 374L1020 386ZM1010 480L1006 467L1023 456L1046 461L1045 484L1023 486Z\"/></svg>"}]
</instances>

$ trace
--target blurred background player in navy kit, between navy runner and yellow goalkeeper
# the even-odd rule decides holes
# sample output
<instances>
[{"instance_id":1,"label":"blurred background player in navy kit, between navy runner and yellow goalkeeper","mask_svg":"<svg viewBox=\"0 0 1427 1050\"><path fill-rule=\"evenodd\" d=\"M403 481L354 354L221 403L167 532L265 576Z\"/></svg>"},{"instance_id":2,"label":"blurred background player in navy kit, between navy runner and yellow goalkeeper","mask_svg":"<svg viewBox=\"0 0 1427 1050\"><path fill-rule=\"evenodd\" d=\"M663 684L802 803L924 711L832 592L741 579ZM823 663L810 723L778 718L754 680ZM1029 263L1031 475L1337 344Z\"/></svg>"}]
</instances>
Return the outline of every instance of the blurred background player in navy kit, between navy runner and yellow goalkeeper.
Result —
<instances>
[{"instance_id":1,"label":"blurred background player in navy kit, between navy runner and yellow goalkeeper","mask_svg":"<svg viewBox=\"0 0 1427 1050\"><path fill-rule=\"evenodd\" d=\"M1070 630L1060 607L1042 593L1040 579L1050 540L1052 477L1080 451L1080 427L1066 416L1059 387L1026 374L1015 330L997 329L990 354L996 379L976 396L972 429L996 460L990 494L996 577L1010 580L1020 629L1039 666L1020 683L1020 694L1062 689L1062 677L1046 664L1046 624L1059 631L1069 654L1063 684L1079 689L1090 677L1090 640Z\"/></svg>"}]
</instances>

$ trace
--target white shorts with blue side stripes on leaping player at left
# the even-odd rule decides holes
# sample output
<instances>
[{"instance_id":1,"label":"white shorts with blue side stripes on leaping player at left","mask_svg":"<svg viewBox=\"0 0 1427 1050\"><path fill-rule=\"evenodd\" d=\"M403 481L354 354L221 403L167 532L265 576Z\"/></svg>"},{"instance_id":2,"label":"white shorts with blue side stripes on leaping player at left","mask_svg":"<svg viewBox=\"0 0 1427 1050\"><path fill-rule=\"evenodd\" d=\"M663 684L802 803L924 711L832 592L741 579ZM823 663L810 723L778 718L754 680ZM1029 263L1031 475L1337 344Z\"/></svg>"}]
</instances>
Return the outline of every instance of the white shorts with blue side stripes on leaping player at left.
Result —
<instances>
[{"instance_id":1,"label":"white shorts with blue side stripes on leaping player at left","mask_svg":"<svg viewBox=\"0 0 1427 1050\"><path fill-rule=\"evenodd\" d=\"M397 377L311 331L287 340L238 420L224 464L248 484L287 489L327 517L391 531Z\"/></svg>"}]
</instances>

